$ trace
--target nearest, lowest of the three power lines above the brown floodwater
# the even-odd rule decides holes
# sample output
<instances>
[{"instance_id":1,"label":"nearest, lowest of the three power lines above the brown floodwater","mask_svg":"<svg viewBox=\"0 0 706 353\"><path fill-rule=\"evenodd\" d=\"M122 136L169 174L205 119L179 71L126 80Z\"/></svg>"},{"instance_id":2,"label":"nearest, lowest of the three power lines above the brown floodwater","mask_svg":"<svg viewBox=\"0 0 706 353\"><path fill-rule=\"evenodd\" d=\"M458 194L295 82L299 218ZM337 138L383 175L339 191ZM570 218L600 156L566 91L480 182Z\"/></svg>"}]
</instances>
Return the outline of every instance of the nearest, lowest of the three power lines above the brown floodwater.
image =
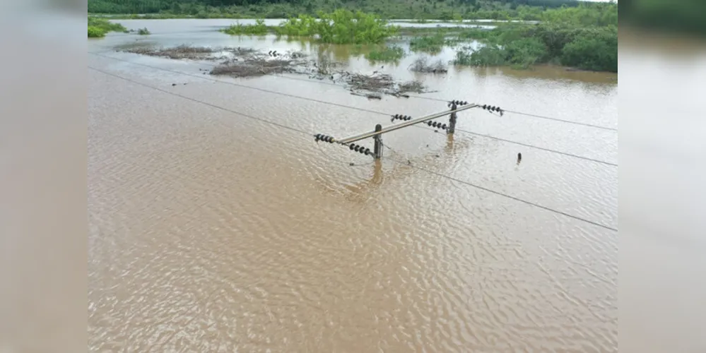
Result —
<instances>
[{"instance_id":1,"label":"nearest, lowest of the three power lines above the brown floodwater","mask_svg":"<svg viewBox=\"0 0 706 353\"><path fill-rule=\"evenodd\" d=\"M211 104L211 103L204 102L204 101L201 101L201 100L196 100L196 99L194 99L194 98L192 98L192 97L187 97L187 96L184 96L184 95L177 94L177 93L175 93L175 92L170 92L170 91L167 91L167 90L163 90L163 89L161 89L161 88L157 88L157 87L154 87L154 86L152 86L152 85L146 85L145 83L141 83L141 82L138 82L138 81L136 81L136 80L131 80L130 78L125 78L125 77L122 77L122 76L118 76L118 75L115 75L114 73L109 73L109 72L107 72L107 71L103 71L103 70L100 70L100 69L98 69L98 68L93 68L93 67L91 67L91 66L88 66L88 68L90 68L91 70L94 70L94 71L98 71L98 72L100 72L100 73L103 73L103 74L105 74L105 75L107 75L107 76L112 76L112 77L115 77L115 78L120 78L120 79L122 79L122 80L127 80L128 82L135 83L135 84L141 85L141 86L143 86L143 87L152 88L153 90L157 90L157 91L159 91L159 92L167 93L168 95L174 95L174 96L176 96L176 97L181 97L181 98L183 98L183 99L185 99L185 100L190 100L190 101L192 101L192 102L197 102L197 103L205 104L205 105L207 105L208 107L213 107L213 108L216 108L216 109L223 110L223 111L225 111L225 112L230 112L230 113L237 114L237 115L240 115L240 116L245 116L246 118L249 118L249 119L254 119L254 120L257 120L257 121L261 121L261 122L263 122L263 123L266 123L266 124L271 124L271 125L273 125L273 126L277 126L277 127L280 127L280 128L285 128L285 129L290 130L290 131L295 131L295 132L298 132L298 133L303 133L303 134L305 134L305 135L307 135L307 136L312 136L312 133L308 133L307 131L302 131L302 130L300 130L300 129L298 129L298 128L293 128L293 127L291 127L291 126L286 126L286 125L283 125L283 124L278 124L278 123L275 123L275 122L273 122L273 121L269 121L269 120L266 120L266 119L258 118L257 116L251 116L251 115L248 115L248 114L243 114L243 113L241 113L241 112L236 112L235 110L232 110L232 109L228 109L228 108L225 108L225 107L220 107L220 106L218 106L218 105L216 105L216 104ZM390 149L390 150L392 150L392 149ZM399 163L399 164L409 165L409 166L411 166L411 167L413 167L413 168L420 169L420 170L422 170L422 171L424 171L424 172L428 172L428 173L430 173L430 174L437 175L438 177L447 178L447 179L452 180L452 181L457 181L457 182L459 182L459 183L461 183L461 184L465 184L465 185L468 185L468 186L472 186L472 187L474 187L474 188L476 188L476 189L481 189L481 190L487 191L487 192L489 192L489 193L494 193L495 195L498 195L498 196L504 196L504 197L510 198L510 199L512 199L512 200L514 200L514 201L519 201L519 202L525 203L525 204L527 204L527 205L533 205L533 206L535 206L535 207L537 207L537 208L541 208L541 209L543 209L543 210L548 210L548 211L550 211L550 212L557 213L557 214L559 214L559 215L564 215L564 216L566 216L566 217L570 217L570 218L573 218L573 219L575 219L575 220L580 220L580 221L582 221L582 222L587 222L587 223L589 223L589 224L591 224L591 225L596 225L596 226L598 226L598 227L602 227L602 228L605 228L605 229L613 230L613 231L615 231L615 232L618 231L618 229L616 229L616 228L609 227L609 226L606 226L606 225L601 225L601 224L598 223L598 222L594 222L594 221L591 221L591 220L586 220L586 219L584 219L584 218L582 218L582 217L578 217L578 216L575 216L575 215L570 215L569 213L565 213L565 212L563 212L563 211L554 210L554 209L552 209L552 208L548 208L548 207L546 207L546 206L539 205L539 204L537 204L537 203L533 203L533 202L531 202L531 201L525 201L525 200L523 200L522 198L517 198L517 197L515 197L515 196L510 196L510 195L507 195L507 194L505 194L505 193L501 193L501 192L499 192L499 191L494 191L494 190L491 190L491 189L488 189L488 188L484 188L483 186L478 186L478 185L476 185L476 184L471 184L469 181L464 181L464 180L461 180L461 179L457 179L457 178L454 178L454 177L450 177L450 176L447 176L447 175L445 175L445 174L441 174L441 173L439 173L439 172L434 172L433 170L430 170L430 169L425 169L425 168L422 168L422 167L417 167L417 166L412 165L412 164L410 164L410 163L400 162L399 160L395 160L394 158L390 158L390 160L392 160L392 161L394 161L394 162L396 162L396 163Z\"/></svg>"}]
</instances>

